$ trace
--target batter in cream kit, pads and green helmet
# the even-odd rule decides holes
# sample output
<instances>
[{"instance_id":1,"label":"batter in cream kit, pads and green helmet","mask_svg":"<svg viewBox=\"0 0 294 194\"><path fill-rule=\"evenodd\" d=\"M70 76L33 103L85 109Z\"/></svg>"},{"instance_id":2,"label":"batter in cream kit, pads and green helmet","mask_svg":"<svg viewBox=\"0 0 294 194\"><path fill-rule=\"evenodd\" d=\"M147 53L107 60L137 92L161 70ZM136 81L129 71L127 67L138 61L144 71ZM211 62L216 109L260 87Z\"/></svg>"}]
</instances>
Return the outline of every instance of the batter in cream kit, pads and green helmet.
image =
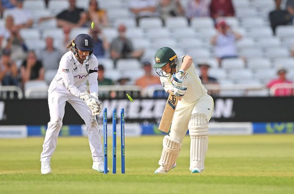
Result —
<instances>
[{"instance_id":1,"label":"batter in cream kit, pads and green helmet","mask_svg":"<svg viewBox=\"0 0 294 194\"><path fill-rule=\"evenodd\" d=\"M154 173L167 173L176 167L187 129L191 139L189 170L191 173L201 173L208 146L208 121L214 106L213 99L207 95L191 56L178 58L172 49L163 47L155 53L153 67L161 76L165 91L180 97L170 133L163 140L163 151L158 162L160 167Z\"/></svg>"}]
</instances>

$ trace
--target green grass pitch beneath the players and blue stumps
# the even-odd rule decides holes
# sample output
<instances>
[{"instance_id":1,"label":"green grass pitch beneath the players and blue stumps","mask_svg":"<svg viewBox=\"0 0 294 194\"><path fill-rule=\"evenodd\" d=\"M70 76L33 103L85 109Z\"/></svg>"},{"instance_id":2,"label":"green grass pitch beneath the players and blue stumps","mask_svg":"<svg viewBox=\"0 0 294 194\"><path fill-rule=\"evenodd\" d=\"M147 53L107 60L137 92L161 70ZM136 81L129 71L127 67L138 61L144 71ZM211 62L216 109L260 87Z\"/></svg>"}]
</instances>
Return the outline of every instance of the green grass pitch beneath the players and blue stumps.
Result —
<instances>
[{"instance_id":1,"label":"green grass pitch beneath the players and blue stumps","mask_svg":"<svg viewBox=\"0 0 294 194\"><path fill-rule=\"evenodd\" d=\"M210 136L205 171L189 171L189 136L177 167L154 175L163 136L126 138L126 174L92 170L86 137L59 137L52 174L40 174L43 137L0 140L0 194L294 194L294 135Z\"/></svg>"}]
</instances>

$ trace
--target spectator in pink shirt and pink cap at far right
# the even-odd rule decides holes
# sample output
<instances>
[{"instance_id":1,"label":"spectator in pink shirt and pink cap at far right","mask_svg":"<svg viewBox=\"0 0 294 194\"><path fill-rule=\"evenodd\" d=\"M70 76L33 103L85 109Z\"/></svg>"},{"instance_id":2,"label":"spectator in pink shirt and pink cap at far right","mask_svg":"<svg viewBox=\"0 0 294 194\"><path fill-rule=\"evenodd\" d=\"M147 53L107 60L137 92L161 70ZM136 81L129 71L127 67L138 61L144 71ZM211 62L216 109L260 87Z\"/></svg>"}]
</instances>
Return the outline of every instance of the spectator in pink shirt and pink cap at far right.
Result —
<instances>
[{"instance_id":1,"label":"spectator in pink shirt and pink cap at far right","mask_svg":"<svg viewBox=\"0 0 294 194\"><path fill-rule=\"evenodd\" d=\"M278 79L274 79L274 80L270 81L267 84L267 87L271 88L274 85L279 84L279 83L285 83L285 84L286 83L293 83L292 81L287 80L286 74L287 74L287 70L283 67L280 67L277 70ZM279 89L276 89L276 91L275 91L276 97L285 97L285 96L293 96L293 95L294 95L293 88L281 87Z\"/></svg>"}]
</instances>

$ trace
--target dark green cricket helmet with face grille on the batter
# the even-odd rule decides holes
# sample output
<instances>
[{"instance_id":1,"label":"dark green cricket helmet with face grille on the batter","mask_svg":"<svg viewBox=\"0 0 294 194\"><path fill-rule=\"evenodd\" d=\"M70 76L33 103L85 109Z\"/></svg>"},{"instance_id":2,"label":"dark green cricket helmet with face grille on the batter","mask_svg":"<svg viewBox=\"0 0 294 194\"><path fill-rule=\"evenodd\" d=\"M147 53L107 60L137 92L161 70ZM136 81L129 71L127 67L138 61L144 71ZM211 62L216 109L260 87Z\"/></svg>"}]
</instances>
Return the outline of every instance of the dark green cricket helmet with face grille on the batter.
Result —
<instances>
[{"instance_id":1,"label":"dark green cricket helmet with face grille on the batter","mask_svg":"<svg viewBox=\"0 0 294 194\"><path fill-rule=\"evenodd\" d=\"M168 77L170 75L170 72L172 71L172 68L176 68L177 62L178 62L178 56L175 53L173 49L170 49L169 47L163 47L161 49L158 49L155 53L155 64L153 65L153 68L156 69L156 73L159 76ZM161 69L166 64L170 64L170 72L165 72Z\"/></svg>"}]
</instances>

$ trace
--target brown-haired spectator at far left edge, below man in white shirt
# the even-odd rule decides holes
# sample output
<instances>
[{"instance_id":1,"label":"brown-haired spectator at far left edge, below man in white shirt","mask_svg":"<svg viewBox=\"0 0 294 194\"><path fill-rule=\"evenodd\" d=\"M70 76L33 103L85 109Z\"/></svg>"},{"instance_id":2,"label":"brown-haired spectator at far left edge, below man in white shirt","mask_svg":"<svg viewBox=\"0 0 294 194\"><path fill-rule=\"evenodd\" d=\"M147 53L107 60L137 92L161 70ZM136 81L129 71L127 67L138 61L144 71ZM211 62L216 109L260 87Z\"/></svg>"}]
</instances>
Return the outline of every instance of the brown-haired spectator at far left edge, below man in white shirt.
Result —
<instances>
[{"instance_id":1,"label":"brown-haired spectator at far left edge, below man in white shirt","mask_svg":"<svg viewBox=\"0 0 294 194\"><path fill-rule=\"evenodd\" d=\"M0 46L11 50L11 59L14 61L26 57L27 47L10 15L5 18L5 28L0 29Z\"/></svg>"}]
</instances>

